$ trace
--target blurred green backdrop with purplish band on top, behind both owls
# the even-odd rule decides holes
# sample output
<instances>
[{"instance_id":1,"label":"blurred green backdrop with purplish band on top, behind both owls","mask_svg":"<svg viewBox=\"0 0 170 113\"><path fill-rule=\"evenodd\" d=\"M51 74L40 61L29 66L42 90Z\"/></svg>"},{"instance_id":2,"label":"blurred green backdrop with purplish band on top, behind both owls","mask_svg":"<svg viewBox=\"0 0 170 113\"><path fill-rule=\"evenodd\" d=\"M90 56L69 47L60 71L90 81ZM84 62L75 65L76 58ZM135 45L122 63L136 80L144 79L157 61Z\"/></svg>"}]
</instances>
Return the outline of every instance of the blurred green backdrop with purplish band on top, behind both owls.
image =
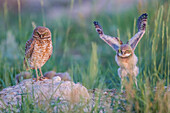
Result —
<instances>
[{"instance_id":1,"label":"blurred green backdrop with purplish band on top, behind both owls","mask_svg":"<svg viewBox=\"0 0 170 113\"><path fill-rule=\"evenodd\" d=\"M14 85L16 74L24 71L25 43L36 25L52 32L53 55L43 73L68 71L74 82L88 88L119 89L115 52L99 38L93 21L126 43L137 32L136 19L142 13L148 13L148 25L135 50L137 79L142 83L150 77L153 86L158 80L167 85L168 5L168 0L0 0L0 88Z\"/></svg>"}]
</instances>

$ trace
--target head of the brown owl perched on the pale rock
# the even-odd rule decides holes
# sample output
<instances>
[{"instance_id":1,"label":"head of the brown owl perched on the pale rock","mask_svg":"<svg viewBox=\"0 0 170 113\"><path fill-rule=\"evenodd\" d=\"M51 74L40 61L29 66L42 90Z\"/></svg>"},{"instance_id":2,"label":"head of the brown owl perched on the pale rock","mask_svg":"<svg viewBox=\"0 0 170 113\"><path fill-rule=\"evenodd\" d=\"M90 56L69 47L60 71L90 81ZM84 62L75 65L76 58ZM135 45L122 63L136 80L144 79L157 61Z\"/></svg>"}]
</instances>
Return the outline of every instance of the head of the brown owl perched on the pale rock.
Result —
<instances>
[{"instance_id":1,"label":"head of the brown owl perched on the pale rock","mask_svg":"<svg viewBox=\"0 0 170 113\"><path fill-rule=\"evenodd\" d=\"M36 39L50 39L51 31L46 27L38 26L34 29L32 35Z\"/></svg>"}]
</instances>

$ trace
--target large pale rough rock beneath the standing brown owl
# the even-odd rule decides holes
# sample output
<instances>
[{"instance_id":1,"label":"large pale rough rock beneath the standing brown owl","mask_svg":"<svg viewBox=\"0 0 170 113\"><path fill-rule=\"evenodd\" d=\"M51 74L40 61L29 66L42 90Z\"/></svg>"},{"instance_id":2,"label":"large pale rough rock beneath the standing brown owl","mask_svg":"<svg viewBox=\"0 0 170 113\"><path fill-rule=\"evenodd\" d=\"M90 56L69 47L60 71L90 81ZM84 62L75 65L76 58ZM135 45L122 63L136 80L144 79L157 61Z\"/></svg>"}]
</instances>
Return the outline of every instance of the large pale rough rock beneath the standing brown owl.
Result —
<instances>
[{"instance_id":1,"label":"large pale rough rock beneath the standing brown owl","mask_svg":"<svg viewBox=\"0 0 170 113\"><path fill-rule=\"evenodd\" d=\"M8 106L12 109L14 105L21 105L22 96L34 98L36 103L58 99L70 103L87 102L90 98L87 89L81 84L71 81L61 81L59 76L43 81L26 79L17 84L0 91L0 108ZM45 101L45 102L44 102Z\"/></svg>"}]
</instances>

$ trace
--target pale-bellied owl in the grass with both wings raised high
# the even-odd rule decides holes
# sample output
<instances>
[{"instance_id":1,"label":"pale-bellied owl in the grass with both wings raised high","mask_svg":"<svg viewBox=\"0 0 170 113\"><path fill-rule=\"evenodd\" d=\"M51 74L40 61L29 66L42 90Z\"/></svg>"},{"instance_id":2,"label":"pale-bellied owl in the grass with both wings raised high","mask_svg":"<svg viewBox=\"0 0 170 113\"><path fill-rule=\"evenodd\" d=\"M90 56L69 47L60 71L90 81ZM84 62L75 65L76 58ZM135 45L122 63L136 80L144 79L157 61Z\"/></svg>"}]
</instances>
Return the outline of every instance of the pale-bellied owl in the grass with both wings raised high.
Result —
<instances>
[{"instance_id":1,"label":"pale-bellied owl in the grass with both wings raised high","mask_svg":"<svg viewBox=\"0 0 170 113\"><path fill-rule=\"evenodd\" d=\"M144 13L137 21L138 32L126 44L123 44L119 38L105 35L99 23L94 21L96 31L99 33L100 38L116 51L115 60L120 66L118 75L121 78L121 90L123 89L123 78L127 76L127 74L132 75L137 86L136 76L139 73L139 68L136 66L138 58L134 51L145 33L146 22L147 14Z\"/></svg>"}]
</instances>

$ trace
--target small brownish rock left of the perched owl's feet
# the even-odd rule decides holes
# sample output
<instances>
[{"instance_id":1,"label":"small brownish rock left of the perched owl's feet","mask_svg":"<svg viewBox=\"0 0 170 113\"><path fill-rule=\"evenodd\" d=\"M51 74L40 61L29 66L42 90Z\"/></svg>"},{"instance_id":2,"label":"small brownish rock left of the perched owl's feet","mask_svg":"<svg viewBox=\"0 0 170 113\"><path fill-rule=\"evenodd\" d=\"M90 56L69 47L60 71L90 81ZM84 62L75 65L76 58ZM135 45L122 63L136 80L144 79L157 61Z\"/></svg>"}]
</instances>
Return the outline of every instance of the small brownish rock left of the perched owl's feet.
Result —
<instances>
[{"instance_id":1,"label":"small brownish rock left of the perched owl's feet","mask_svg":"<svg viewBox=\"0 0 170 113\"><path fill-rule=\"evenodd\" d=\"M15 80L17 83L24 79L32 78L32 74L30 72L24 71L16 75Z\"/></svg>"}]
</instances>

